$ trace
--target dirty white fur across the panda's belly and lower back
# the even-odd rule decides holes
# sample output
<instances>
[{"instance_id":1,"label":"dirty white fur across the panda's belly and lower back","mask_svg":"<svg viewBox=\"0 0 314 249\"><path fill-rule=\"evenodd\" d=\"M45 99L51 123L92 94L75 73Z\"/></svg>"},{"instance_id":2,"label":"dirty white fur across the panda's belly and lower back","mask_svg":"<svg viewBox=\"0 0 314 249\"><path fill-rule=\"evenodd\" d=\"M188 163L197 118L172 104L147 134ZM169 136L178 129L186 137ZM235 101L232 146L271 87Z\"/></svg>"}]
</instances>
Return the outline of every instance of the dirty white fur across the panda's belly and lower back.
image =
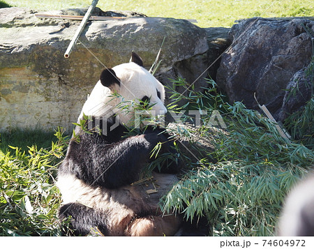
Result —
<instances>
[{"instance_id":1,"label":"dirty white fur across the panda's belly and lower back","mask_svg":"<svg viewBox=\"0 0 314 249\"><path fill-rule=\"evenodd\" d=\"M151 186L128 185L117 189L93 188L73 175L59 176L57 186L62 194L63 204L78 202L91 209L103 211L110 222L107 229L111 234L122 235L125 227L117 226L140 211L157 210L160 197L165 195L178 181L172 174L153 173L158 192L147 195ZM152 213L154 215L154 213Z\"/></svg>"}]
</instances>

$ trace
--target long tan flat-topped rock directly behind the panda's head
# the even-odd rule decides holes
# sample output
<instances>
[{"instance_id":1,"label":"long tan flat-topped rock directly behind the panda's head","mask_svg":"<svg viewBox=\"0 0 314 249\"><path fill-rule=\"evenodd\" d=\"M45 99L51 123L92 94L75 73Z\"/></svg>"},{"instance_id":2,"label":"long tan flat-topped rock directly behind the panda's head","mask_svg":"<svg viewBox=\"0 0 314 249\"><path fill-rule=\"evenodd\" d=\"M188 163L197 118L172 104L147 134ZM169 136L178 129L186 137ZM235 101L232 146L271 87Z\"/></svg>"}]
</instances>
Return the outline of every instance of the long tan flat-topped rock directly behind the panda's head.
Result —
<instances>
[{"instance_id":1,"label":"long tan flat-topped rock directly behind the panda's head","mask_svg":"<svg viewBox=\"0 0 314 249\"><path fill-rule=\"evenodd\" d=\"M82 15L84 11L52 14ZM103 15L101 10L96 12ZM177 63L191 74L198 71L193 73L195 66L187 68L190 63L185 61L196 60L204 70L207 67L201 65L202 60L207 63L207 33L186 20L132 17L89 22L65 59L80 21L40 20L34 13L0 9L0 130L70 128L103 68L127 62L131 51L140 54L149 68L164 38L160 79L167 80L164 75Z\"/></svg>"}]
</instances>

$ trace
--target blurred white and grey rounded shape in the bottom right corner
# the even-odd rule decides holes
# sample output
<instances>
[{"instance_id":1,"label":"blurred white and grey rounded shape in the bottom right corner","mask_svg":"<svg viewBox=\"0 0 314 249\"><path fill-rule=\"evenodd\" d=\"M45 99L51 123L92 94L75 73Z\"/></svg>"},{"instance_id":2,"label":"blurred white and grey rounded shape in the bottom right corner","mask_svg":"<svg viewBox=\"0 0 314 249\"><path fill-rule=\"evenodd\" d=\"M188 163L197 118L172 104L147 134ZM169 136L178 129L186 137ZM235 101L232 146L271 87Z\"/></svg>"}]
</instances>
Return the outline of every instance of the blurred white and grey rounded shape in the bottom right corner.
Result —
<instances>
[{"instance_id":1,"label":"blurred white and grey rounded shape in the bottom right corner","mask_svg":"<svg viewBox=\"0 0 314 249\"><path fill-rule=\"evenodd\" d=\"M314 174L297 183L285 199L278 236L314 236Z\"/></svg>"}]
</instances>

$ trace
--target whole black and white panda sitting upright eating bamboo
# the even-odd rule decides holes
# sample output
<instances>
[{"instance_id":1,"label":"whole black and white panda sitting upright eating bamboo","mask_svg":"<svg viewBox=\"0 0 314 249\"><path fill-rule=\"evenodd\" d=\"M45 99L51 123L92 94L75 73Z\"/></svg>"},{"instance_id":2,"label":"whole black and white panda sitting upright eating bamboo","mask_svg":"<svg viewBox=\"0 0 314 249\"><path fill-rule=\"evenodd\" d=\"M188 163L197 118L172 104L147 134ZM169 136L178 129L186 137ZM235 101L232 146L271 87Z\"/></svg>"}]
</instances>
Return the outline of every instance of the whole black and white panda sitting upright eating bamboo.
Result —
<instances>
[{"instance_id":1,"label":"whole black and white panda sitting upright eating bamboo","mask_svg":"<svg viewBox=\"0 0 314 249\"><path fill-rule=\"evenodd\" d=\"M177 163L162 167L161 173L153 172L156 193L149 195L145 184L132 184L140 180L156 144L162 143L162 152L170 150L169 135L163 128L147 128L142 135L124 137L134 121L134 110L114 108L135 101L149 103L151 110L165 114L164 100L163 85L143 68L135 53L131 62L101 73L79 121L91 116L88 130L99 126L106 132L89 133L76 126L58 172L63 199L59 218L70 217L75 235L87 235L92 227L105 236L173 236L179 230L181 217L163 216L158 208L160 197L177 182Z\"/></svg>"}]
</instances>

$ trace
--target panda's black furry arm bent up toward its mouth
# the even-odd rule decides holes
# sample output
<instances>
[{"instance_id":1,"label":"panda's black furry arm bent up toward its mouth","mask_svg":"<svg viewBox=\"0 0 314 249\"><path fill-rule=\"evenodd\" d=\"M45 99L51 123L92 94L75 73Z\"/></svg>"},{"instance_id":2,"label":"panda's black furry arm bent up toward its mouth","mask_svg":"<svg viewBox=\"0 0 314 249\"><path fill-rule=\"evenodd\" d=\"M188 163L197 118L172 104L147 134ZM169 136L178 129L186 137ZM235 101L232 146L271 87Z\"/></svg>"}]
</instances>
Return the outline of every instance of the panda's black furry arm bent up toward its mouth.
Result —
<instances>
[{"instance_id":1,"label":"panda's black furry arm bent up toward its mouth","mask_svg":"<svg viewBox=\"0 0 314 249\"><path fill-rule=\"evenodd\" d=\"M167 137L149 133L106 144L105 136L84 133L80 142L70 142L66 160L72 173L91 186L119 188L139 179L151 150Z\"/></svg>"}]
</instances>

